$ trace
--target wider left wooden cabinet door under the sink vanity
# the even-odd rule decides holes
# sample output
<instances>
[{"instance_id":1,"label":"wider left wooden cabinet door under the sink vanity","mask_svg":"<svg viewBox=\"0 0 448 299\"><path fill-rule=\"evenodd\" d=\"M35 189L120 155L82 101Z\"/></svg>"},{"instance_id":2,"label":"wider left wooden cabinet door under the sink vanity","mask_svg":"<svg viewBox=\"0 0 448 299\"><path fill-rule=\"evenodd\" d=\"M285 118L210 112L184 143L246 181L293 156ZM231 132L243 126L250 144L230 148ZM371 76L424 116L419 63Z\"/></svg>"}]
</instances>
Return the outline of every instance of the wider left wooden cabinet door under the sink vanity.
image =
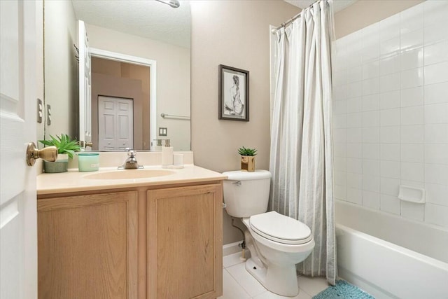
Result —
<instances>
[{"instance_id":1,"label":"wider left wooden cabinet door under the sink vanity","mask_svg":"<svg viewBox=\"0 0 448 299\"><path fill-rule=\"evenodd\" d=\"M38 298L137 298L137 191L37 207Z\"/></svg>"}]
</instances>

